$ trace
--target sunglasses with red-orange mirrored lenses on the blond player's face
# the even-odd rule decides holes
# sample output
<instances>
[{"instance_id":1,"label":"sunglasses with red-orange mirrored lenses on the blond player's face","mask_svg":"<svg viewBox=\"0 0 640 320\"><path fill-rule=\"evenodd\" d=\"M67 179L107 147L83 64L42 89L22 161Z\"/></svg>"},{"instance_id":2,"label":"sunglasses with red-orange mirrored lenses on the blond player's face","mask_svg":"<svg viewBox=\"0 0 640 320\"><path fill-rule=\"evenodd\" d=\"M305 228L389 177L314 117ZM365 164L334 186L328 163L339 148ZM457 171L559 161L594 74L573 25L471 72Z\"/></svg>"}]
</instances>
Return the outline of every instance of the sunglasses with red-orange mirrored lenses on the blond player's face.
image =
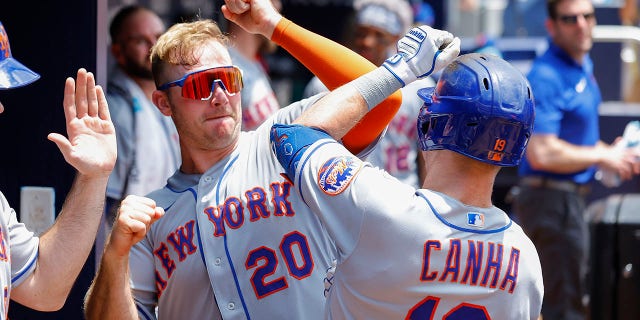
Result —
<instances>
[{"instance_id":1,"label":"sunglasses with red-orange mirrored lenses on the blond player's face","mask_svg":"<svg viewBox=\"0 0 640 320\"><path fill-rule=\"evenodd\" d=\"M167 82L159 86L158 90L181 87L183 98L209 100L213 96L216 83L228 95L232 96L242 89L242 72L236 66L198 70L188 73L178 80Z\"/></svg>"}]
</instances>

